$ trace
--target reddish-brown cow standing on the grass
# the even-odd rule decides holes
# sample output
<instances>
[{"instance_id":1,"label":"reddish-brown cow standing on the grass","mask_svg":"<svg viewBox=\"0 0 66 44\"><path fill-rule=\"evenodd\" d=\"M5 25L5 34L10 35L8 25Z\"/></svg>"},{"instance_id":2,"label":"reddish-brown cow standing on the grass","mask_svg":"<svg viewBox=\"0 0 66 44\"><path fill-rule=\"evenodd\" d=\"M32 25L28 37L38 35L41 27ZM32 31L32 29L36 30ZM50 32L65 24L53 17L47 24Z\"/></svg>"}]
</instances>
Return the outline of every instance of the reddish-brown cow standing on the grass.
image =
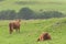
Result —
<instances>
[{"instance_id":1,"label":"reddish-brown cow standing on the grass","mask_svg":"<svg viewBox=\"0 0 66 44\"><path fill-rule=\"evenodd\" d=\"M11 21L9 23L10 34L13 32L13 30L15 30L16 32L18 31L20 32L20 22L21 22L21 20L15 20L15 21Z\"/></svg>"}]
</instances>

